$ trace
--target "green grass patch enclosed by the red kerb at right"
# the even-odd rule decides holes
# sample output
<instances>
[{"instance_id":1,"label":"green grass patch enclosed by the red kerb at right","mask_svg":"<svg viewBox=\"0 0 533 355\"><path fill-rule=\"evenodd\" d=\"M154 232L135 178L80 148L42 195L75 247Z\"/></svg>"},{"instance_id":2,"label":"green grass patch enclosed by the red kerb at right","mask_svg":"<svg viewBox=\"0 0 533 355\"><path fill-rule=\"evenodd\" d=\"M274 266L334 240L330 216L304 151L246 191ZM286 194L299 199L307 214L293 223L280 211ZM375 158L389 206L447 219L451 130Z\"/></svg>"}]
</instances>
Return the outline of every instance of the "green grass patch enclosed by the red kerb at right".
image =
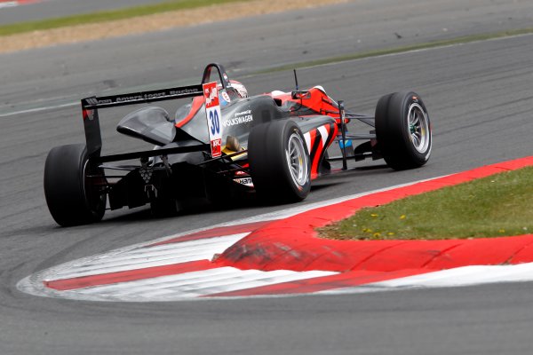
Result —
<instances>
[{"instance_id":1,"label":"green grass patch enclosed by the red kerb at right","mask_svg":"<svg viewBox=\"0 0 533 355\"><path fill-rule=\"evenodd\" d=\"M319 229L340 240L440 240L533 233L533 167L372 209Z\"/></svg>"}]
</instances>

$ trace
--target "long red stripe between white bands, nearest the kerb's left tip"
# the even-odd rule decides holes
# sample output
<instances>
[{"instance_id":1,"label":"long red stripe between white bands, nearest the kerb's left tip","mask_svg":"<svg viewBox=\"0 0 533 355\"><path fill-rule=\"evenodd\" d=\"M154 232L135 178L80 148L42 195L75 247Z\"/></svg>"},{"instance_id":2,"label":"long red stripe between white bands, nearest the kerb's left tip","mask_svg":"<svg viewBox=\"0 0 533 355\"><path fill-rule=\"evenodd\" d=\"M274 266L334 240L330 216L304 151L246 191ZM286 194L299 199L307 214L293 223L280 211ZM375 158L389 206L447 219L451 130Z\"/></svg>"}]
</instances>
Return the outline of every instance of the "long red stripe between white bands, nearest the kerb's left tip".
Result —
<instances>
[{"instance_id":1,"label":"long red stripe between white bands, nearest the kerb's left tip","mask_svg":"<svg viewBox=\"0 0 533 355\"><path fill-rule=\"evenodd\" d=\"M181 264L171 264L163 266L147 267L138 270L128 270L123 272L109 272L99 275L81 276L71 279L44 281L47 288L67 291L76 288L91 288L95 286L109 285L119 282L151 279L160 276L169 276L185 272L199 272L217 268L209 260L199 260Z\"/></svg>"}]
</instances>

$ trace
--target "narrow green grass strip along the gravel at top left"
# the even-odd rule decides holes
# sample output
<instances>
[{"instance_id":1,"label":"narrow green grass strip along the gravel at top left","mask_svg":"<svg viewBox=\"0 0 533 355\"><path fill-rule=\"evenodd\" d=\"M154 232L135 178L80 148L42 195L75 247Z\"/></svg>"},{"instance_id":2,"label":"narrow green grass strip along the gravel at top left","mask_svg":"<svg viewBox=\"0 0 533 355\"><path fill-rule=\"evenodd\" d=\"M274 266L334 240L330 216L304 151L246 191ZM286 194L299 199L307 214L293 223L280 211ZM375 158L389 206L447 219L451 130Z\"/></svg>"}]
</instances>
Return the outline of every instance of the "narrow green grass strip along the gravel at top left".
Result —
<instances>
[{"instance_id":1,"label":"narrow green grass strip along the gravel at top left","mask_svg":"<svg viewBox=\"0 0 533 355\"><path fill-rule=\"evenodd\" d=\"M193 9L212 4L227 4L242 2L246 0L174 0L161 4L136 6L126 9L110 10L103 12L91 12L81 15L72 15L49 20L37 20L20 22L12 25L0 26L0 36L11 36L24 32L45 30L52 28L63 28L89 23L100 23L112 20L131 19L139 16L152 15L161 12Z\"/></svg>"}]
</instances>

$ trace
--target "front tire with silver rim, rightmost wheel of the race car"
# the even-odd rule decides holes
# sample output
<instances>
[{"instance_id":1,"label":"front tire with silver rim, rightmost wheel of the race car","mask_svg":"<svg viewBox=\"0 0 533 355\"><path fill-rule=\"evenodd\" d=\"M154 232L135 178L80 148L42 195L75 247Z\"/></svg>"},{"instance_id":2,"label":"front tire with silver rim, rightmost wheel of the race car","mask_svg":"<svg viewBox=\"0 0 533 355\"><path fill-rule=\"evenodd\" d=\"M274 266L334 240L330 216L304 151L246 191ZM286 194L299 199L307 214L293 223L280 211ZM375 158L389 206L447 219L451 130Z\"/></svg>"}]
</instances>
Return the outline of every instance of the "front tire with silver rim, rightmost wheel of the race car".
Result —
<instances>
[{"instance_id":1,"label":"front tire with silver rim, rightmost wheel of the race car","mask_svg":"<svg viewBox=\"0 0 533 355\"><path fill-rule=\"evenodd\" d=\"M375 117L379 150L388 166L406 170L426 164L432 148L431 125L417 93L402 91L383 96Z\"/></svg>"}]
</instances>

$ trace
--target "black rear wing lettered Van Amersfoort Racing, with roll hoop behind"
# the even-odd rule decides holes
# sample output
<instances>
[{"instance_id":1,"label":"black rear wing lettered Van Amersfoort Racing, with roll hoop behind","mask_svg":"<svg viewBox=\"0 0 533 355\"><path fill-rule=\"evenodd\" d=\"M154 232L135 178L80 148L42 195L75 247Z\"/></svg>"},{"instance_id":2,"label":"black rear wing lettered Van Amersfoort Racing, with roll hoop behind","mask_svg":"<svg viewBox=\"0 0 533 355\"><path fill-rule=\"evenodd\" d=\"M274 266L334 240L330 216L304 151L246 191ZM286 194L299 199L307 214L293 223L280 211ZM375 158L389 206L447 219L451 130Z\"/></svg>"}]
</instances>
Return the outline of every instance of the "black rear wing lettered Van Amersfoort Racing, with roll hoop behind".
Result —
<instances>
[{"instance_id":1,"label":"black rear wing lettered Van Amersfoort Racing, with roll hoop behind","mask_svg":"<svg viewBox=\"0 0 533 355\"><path fill-rule=\"evenodd\" d=\"M184 146L169 149L150 150L147 152L136 152L129 154L115 154L100 156L102 148L102 138L99 128L98 110L102 108L139 105L155 101L164 101L171 99L187 99L203 95L203 83L208 83L211 77L211 71L215 68L219 75L219 81L222 88L229 86L226 70L218 63L211 63L203 71L202 83L190 86L181 86L175 88L131 92L123 95L102 96L82 99L82 112L84 116L85 141L87 154L95 162L113 162L120 160L129 160L135 158L148 158L162 154L178 154L192 151L203 151L210 149L210 145Z\"/></svg>"}]
</instances>

